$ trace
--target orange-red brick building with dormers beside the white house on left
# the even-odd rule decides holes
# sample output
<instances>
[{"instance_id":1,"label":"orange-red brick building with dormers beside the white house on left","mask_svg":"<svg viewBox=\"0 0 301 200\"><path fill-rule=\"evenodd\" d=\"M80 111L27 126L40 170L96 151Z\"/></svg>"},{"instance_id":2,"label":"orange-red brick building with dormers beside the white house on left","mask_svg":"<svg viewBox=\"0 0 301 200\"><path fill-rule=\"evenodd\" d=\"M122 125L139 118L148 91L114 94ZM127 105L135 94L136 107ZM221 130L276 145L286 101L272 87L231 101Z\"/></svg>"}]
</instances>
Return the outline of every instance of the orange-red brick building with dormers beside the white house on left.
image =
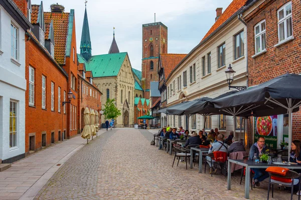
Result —
<instances>
[{"instance_id":1,"label":"orange-red brick building with dormers beside the white house on left","mask_svg":"<svg viewBox=\"0 0 301 200\"><path fill-rule=\"evenodd\" d=\"M34 28L26 35L26 155L62 140L67 128L62 101L68 92L68 74L54 58L54 24L44 20L43 3L32 5L31 22Z\"/></svg>"}]
</instances>

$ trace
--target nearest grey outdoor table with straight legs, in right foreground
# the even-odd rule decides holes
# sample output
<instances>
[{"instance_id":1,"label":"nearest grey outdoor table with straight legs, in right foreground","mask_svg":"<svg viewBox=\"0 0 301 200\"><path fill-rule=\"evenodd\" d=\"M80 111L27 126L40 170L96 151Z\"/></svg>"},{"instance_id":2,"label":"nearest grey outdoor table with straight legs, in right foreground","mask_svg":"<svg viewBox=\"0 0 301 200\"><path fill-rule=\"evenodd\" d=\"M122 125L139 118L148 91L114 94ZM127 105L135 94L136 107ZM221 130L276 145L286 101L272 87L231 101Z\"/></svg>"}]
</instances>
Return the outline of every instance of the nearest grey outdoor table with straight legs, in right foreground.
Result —
<instances>
[{"instance_id":1,"label":"nearest grey outdoor table with straight legs, in right foreground","mask_svg":"<svg viewBox=\"0 0 301 200\"><path fill-rule=\"evenodd\" d=\"M227 189L231 189L231 162L235 164L239 164L246 167L246 176L245 176L245 198L249 198L249 192L250 192L250 173L247 171L250 171L250 168L267 168L269 166L281 166L284 168L289 169L301 169L301 166L298 164L267 164L263 162L254 162L253 160L247 160L247 159L229 159L228 160L228 187Z\"/></svg>"}]
</instances>

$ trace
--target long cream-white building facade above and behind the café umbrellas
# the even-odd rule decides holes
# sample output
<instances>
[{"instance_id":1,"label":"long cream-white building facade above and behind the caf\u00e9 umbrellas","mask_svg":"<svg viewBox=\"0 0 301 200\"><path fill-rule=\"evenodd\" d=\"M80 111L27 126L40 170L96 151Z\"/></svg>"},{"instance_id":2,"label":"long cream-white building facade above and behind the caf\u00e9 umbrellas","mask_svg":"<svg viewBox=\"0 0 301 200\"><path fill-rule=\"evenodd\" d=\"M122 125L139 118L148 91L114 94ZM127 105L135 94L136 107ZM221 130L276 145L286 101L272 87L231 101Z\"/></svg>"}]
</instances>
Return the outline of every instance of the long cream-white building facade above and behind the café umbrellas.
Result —
<instances>
[{"instance_id":1,"label":"long cream-white building facade above and behind the caf\u00e9 umbrellas","mask_svg":"<svg viewBox=\"0 0 301 200\"><path fill-rule=\"evenodd\" d=\"M205 96L214 98L228 92L225 70L229 64L236 71L232 85L247 85L246 26L238 19L237 13L233 13L227 19L222 18L222 15L218 20L224 20L224 22L217 20L216 23L219 22L221 25L214 24L203 40L168 76L166 80L167 107L185 100ZM237 119L236 132L238 133L240 118L237 117ZM186 116L168 115L167 121L172 127L183 126L185 128L188 120ZM190 116L188 128L190 131L202 130L204 117L200 114ZM233 130L233 117L207 116L205 129L209 131L211 128L218 128L219 132L226 136L230 130Z\"/></svg>"}]
</instances>

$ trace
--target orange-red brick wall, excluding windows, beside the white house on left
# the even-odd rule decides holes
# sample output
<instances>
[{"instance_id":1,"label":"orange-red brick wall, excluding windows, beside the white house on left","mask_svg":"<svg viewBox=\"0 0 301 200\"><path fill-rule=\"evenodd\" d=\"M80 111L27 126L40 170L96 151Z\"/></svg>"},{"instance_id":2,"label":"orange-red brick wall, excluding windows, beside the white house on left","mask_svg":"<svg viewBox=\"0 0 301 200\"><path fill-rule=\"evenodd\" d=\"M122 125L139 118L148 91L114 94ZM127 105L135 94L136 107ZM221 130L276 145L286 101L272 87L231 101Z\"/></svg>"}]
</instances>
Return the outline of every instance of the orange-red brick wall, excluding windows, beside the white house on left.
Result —
<instances>
[{"instance_id":1,"label":"orange-red brick wall, excluding windows, beside the white house on left","mask_svg":"<svg viewBox=\"0 0 301 200\"><path fill-rule=\"evenodd\" d=\"M26 37L27 39L28 37ZM33 38L26 40L26 69L27 90L25 92L25 152L29 152L29 135L35 133L35 149L42 147L42 132L46 131L46 145L51 144L51 132L55 132L55 142L58 141L58 131L66 129L66 114L58 112L58 87L67 92L67 77L57 68L44 51L38 47ZM35 68L35 103L29 105L29 66ZM42 109L42 75L46 76L46 109ZM51 81L55 83L54 111L51 111ZM63 115L63 116L62 116ZM63 123L62 123L63 120Z\"/></svg>"}]
</instances>

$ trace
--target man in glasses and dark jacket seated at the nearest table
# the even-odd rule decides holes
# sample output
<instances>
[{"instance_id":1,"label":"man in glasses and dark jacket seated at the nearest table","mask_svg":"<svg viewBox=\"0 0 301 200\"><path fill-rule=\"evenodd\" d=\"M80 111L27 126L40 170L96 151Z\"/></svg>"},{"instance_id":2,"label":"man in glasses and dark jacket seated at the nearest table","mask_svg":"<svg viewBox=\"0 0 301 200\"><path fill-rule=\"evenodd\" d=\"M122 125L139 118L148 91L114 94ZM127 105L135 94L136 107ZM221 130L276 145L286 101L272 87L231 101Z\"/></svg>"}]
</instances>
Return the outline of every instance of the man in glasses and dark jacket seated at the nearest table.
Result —
<instances>
[{"instance_id":1,"label":"man in glasses and dark jacket seated at the nearest table","mask_svg":"<svg viewBox=\"0 0 301 200\"><path fill-rule=\"evenodd\" d=\"M249 159L252 160L254 157L254 153L257 153L257 156L259 156L260 153L265 153L266 152L266 145L265 139L263 136L259 136L257 139L257 142L255 142L249 152ZM269 177L268 172L265 171L263 168L252 168L252 170L255 172L252 184L256 186L260 186L260 182L264 180L265 178Z\"/></svg>"}]
</instances>

